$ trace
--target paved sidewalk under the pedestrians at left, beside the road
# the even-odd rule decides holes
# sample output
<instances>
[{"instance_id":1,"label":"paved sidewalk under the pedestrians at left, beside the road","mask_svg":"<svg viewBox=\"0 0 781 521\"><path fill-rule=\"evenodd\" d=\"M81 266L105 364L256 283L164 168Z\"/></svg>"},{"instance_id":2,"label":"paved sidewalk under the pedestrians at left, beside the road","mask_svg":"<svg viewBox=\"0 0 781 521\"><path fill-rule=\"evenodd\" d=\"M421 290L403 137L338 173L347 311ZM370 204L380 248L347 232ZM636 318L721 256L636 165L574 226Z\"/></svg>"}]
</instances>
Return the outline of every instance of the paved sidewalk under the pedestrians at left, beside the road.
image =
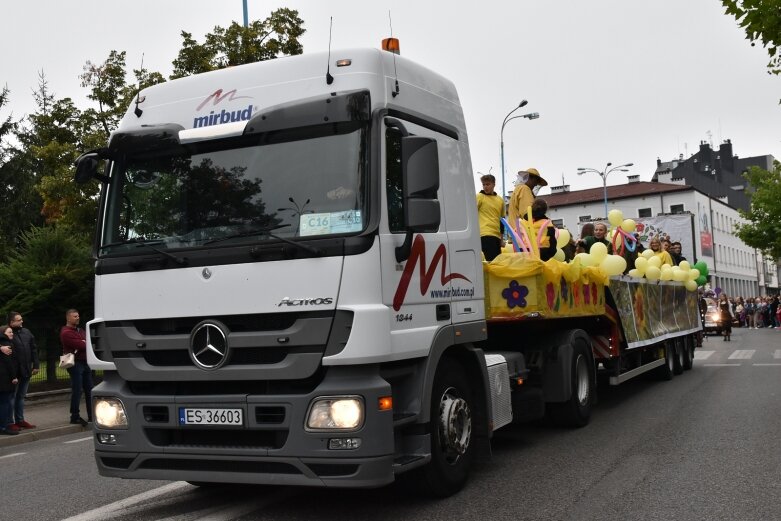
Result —
<instances>
[{"instance_id":1,"label":"paved sidewalk under the pedestrians at left, beside the road","mask_svg":"<svg viewBox=\"0 0 781 521\"><path fill-rule=\"evenodd\" d=\"M84 408L83 400L81 407ZM24 419L36 428L22 429L17 436L0 436L0 448L74 432L91 431L89 427L71 425L69 409L70 389L28 394L24 405Z\"/></svg>"}]
</instances>

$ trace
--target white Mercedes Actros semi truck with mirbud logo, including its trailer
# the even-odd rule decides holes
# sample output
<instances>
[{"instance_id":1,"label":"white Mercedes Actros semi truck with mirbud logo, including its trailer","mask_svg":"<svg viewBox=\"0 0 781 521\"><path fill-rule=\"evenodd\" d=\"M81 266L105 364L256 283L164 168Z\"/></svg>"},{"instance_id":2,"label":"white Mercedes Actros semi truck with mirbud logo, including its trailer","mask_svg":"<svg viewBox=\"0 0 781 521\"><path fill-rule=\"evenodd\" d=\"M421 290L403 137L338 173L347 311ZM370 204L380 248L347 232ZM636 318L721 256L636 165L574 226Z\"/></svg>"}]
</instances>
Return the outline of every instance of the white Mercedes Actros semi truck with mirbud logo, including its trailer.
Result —
<instances>
[{"instance_id":1,"label":"white Mercedes Actros semi truck with mirbud logo, including its trailer","mask_svg":"<svg viewBox=\"0 0 781 521\"><path fill-rule=\"evenodd\" d=\"M87 326L102 475L376 487L409 472L444 496L494 430L546 412L585 425L598 370L691 366L699 322L627 332L613 294L631 314L640 282L600 285L583 313L573 295L596 304L596 285L562 279L570 312L494 318L454 85L386 51L332 56L144 89L79 158L77 181L102 184Z\"/></svg>"}]
</instances>

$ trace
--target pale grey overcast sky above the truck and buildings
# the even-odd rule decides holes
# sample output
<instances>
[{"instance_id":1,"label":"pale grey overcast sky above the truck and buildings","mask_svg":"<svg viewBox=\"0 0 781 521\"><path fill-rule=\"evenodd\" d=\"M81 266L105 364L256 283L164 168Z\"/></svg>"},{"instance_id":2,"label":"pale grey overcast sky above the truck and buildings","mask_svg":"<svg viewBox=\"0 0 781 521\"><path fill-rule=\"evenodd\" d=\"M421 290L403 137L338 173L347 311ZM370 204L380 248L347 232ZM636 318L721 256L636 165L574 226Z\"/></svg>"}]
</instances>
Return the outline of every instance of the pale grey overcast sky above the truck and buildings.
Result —
<instances>
[{"instance_id":1,"label":"pale grey overcast sky above the truck and buildings","mask_svg":"<svg viewBox=\"0 0 781 521\"><path fill-rule=\"evenodd\" d=\"M411 1L248 0L250 19L297 9L304 52L378 47L388 11L402 55L453 80L466 116L475 176L501 179L504 132L508 188L515 172L537 168L550 184L601 186L602 169L633 162L650 180L657 157L671 160L731 139L740 157L781 158L781 77L751 47L718 0ZM11 102L0 116L34 109L31 91L44 71L50 89L86 107L78 76L87 60L127 51L167 76L180 31L202 41L215 25L242 21L241 0L9 0L0 8L0 85ZM608 184L626 182L614 172ZM499 182L501 185L501 181ZM499 187L497 187L499 188ZM542 193L546 193L544 190Z\"/></svg>"}]
</instances>

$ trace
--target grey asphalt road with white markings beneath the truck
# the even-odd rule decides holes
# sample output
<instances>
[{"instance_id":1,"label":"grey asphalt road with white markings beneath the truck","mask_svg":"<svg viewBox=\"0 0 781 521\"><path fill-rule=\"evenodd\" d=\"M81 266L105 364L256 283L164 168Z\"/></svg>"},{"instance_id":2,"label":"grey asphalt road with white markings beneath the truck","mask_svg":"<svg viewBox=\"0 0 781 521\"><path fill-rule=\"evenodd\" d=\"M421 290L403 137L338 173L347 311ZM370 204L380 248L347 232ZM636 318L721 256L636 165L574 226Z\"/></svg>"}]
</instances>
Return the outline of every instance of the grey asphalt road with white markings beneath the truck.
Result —
<instances>
[{"instance_id":1,"label":"grey asphalt road with white markings beneath the truck","mask_svg":"<svg viewBox=\"0 0 781 521\"><path fill-rule=\"evenodd\" d=\"M101 478L79 433L0 449L0 520L781 519L781 331L732 339L708 338L670 382L601 385L583 429L499 431L446 500Z\"/></svg>"}]
</instances>

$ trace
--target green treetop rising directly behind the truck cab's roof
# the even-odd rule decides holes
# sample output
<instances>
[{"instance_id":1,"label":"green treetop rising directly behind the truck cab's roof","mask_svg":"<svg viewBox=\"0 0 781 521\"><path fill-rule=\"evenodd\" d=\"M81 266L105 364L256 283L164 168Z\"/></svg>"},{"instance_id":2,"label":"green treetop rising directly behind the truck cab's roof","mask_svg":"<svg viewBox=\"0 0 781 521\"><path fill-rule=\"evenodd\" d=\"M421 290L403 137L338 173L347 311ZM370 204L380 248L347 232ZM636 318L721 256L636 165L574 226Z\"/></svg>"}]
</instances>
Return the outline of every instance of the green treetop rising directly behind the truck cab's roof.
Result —
<instances>
[{"instance_id":1,"label":"green treetop rising directly behind the truck cab's roof","mask_svg":"<svg viewBox=\"0 0 781 521\"><path fill-rule=\"evenodd\" d=\"M182 48L173 61L171 79L225 67L301 54L304 21L298 11L280 8L265 20L248 27L233 22L228 28L216 26L199 44L191 33L182 31Z\"/></svg>"}]
</instances>

